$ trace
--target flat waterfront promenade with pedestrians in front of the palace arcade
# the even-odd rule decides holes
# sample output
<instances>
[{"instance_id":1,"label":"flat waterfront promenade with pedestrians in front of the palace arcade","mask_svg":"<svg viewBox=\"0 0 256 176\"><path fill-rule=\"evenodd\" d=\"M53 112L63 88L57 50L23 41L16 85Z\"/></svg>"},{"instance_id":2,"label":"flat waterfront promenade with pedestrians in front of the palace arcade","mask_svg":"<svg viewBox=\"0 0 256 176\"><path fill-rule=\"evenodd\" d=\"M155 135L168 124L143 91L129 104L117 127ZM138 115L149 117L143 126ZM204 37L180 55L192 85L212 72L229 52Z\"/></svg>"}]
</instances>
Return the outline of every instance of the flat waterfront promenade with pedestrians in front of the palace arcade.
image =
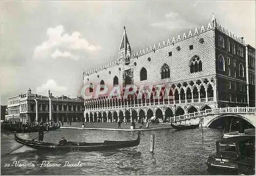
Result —
<instances>
[{"instance_id":1,"label":"flat waterfront promenade with pedestrians in front of the palace arcade","mask_svg":"<svg viewBox=\"0 0 256 176\"><path fill-rule=\"evenodd\" d=\"M64 123L60 128L71 128L71 129L98 129L98 130L157 130L157 129L170 129L172 128L168 124L152 124L150 123L150 127L146 128L146 123L144 123L144 128L140 128L142 126L141 123L135 123L135 129L130 128L131 123L121 123L121 128L118 128L118 123L101 123L101 122L93 122L90 124L89 122L84 122L84 128L82 128L82 122L74 122L71 125L68 123Z\"/></svg>"}]
</instances>

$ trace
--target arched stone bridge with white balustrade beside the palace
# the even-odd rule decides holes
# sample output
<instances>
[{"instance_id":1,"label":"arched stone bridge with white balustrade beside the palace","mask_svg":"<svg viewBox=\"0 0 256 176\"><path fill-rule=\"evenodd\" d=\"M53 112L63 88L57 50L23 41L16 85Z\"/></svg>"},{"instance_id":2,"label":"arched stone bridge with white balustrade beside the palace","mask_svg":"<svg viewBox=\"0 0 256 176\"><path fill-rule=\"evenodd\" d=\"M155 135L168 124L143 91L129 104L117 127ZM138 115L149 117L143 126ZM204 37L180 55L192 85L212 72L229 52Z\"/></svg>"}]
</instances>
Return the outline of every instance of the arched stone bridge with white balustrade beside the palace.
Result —
<instances>
[{"instance_id":1,"label":"arched stone bridge with white balustrade beside the palace","mask_svg":"<svg viewBox=\"0 0 256 176\"><path fill-rule=\"evenodd\" d=\"M217 119L230 116L244 119L255 127L255 107L223 107L205 109L204 111L172 117L171 121L175 122L176 119L176 122L180 122L181 124L198 124L200 119L202 119L203 127L209 127L209 125Z\"/></svg>"}]
</instances>

